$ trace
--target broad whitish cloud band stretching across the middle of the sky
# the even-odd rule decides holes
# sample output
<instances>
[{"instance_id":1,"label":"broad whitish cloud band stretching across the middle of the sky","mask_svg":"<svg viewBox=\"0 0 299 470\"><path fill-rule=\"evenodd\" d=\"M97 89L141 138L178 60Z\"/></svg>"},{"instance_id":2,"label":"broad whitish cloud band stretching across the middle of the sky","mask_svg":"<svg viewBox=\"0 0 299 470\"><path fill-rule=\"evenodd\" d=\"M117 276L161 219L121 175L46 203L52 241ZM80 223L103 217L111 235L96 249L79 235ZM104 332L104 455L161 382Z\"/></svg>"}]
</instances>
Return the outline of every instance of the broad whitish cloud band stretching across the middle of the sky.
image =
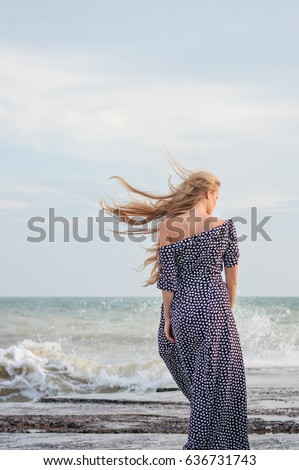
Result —
<instances>
[{"instance_id":1,"label":"broad whitish cloud band stretching across the middle of the sky","mask_svg":"<svg viewBox=\"0 0 299 470\"><path fill-rule=\"evenodd\" d=\"M228 138L267 139L298 117L294 101L266 98L248 86L115 75L103 60L95 68L83 57L8 47L0 57L2 135L47 152L104 159L107 143L165 141L223 148Z\"/></svg>"}]
</instances>

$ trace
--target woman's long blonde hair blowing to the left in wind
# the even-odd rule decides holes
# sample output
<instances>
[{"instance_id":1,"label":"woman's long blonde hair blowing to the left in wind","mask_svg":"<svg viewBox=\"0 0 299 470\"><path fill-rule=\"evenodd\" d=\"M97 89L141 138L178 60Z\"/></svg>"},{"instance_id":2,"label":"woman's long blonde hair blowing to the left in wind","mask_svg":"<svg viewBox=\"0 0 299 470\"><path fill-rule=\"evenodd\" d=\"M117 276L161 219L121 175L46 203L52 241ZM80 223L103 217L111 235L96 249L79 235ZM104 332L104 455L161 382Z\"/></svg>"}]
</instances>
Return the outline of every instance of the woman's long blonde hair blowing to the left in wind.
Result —
<instances>
[{"instance_id":1,"label":"woman's long blonde hair blowing to the left in wind","mask_svg":"<svg viewBox=\"0 0 299 470\"><path fill-rule=\"evenodd\" d=\"M135 199L126 204L117 204L111 198L113 201L112 205L108 204L104 200L99 201L102 208L113 217L116 217L117 221L133 225L133 228L129 231L112 230L114 233L155 234L159 230L159 226L158 224L154 224L152 227L149 227L149 222L156 220L161 222L162 218L165 218L166 220L168 218L184 214L195 206L197 201L204 196L206 191L216 191L220 186L219 178L209 171L187 170L179 165L179 163L174 159L173 162L170 163L177 175L180 176L183 181L175 187L171 183L171 176L169 175L168 187L170 191L165 195L142 191L141 189L129 184L121 176L111 176L108 178L116 178L128 191L147 198L147 201ZM153 202L152 200L156 200L156 202ZM147 225L147 228L136 228L136 224ZM146 251L152 254L144 261L141 270L150 263L153 263L153 267L151 275L143 287L155 284L159 279L158 248L159 241L156 241L150 248L146 248Z\"/></svg>"}]
</instances>

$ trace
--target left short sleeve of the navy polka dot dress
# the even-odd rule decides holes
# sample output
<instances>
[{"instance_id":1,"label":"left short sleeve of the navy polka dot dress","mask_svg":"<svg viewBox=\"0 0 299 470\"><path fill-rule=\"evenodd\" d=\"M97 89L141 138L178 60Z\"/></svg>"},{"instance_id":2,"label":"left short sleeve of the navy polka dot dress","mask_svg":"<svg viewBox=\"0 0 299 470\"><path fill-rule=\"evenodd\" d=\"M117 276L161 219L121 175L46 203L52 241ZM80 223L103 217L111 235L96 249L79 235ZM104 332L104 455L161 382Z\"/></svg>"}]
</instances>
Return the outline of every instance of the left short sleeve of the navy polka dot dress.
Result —
<instances>
[{"instance_id":1,"label":"left short sleeve of the navy polka dot dress","mask_svg":"<svg viewBox=\"0 0 299 470\"><path fill-rule=\"evenodd\" d=\"M177 286L177 268L175 253L169 245L158 249L158 289L175 292Z\"/></svg>"}]
</instances>

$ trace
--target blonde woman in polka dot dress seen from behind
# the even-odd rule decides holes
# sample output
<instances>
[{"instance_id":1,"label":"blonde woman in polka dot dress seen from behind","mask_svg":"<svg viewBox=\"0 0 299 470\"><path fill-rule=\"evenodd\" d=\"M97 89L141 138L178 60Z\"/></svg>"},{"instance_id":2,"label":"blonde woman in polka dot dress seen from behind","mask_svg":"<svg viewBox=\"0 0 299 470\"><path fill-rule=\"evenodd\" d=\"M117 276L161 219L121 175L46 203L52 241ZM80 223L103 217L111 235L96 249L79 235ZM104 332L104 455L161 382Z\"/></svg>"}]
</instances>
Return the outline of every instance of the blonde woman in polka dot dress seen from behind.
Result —
<instances>
[{"instance_id":1,"label":"blonde woman in polka dot dress seen from behind","mask_svg":"<svg viewBox=\"0 0 299 470\"><path fill-rule=\"evenodd\" d=\"M158 196L124 186L154 203L108 206L123 222L159 220L154 262L145 286L162 290L158 350L190 402L188 439L183 449L249 449L246 380L242 350L232 313L239 248L232 219L212 217L220 181L207 171L188 171L176 163L182 182L169 180L170 193ZM136 229L133 231L137 231ZM138 233L144 230L138 230ZM225 269L225 282L221 271Z\"/></svg>"}]
</instances>

